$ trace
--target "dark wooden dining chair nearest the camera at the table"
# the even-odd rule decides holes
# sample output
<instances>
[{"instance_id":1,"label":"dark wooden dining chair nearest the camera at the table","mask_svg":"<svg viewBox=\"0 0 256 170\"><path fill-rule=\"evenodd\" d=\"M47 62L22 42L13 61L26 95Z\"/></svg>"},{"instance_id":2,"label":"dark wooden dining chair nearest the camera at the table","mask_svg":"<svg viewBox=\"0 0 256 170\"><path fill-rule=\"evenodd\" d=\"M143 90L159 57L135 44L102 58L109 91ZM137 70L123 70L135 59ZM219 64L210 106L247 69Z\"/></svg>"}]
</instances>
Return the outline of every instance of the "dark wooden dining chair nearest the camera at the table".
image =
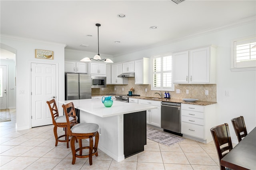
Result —
<instances>
[{"instance_id":1,"label":"dark wooden dining chair nearest the camera at the table","mask_svg":"<svg viewBox=\"0 0 256 170\"><path fill-rule=\"evenodd\" d=\"M214 144L216 146L216 150L218 152L219 162L220 160L233 149L230 131L228 128L228 124L221 124L218 126L214 126L210 129L212 133L212 138ZM225 170L225 166L220 165L220 170ZM229 169L229 168L228 168Z\"/></svg>"}]
</instances>

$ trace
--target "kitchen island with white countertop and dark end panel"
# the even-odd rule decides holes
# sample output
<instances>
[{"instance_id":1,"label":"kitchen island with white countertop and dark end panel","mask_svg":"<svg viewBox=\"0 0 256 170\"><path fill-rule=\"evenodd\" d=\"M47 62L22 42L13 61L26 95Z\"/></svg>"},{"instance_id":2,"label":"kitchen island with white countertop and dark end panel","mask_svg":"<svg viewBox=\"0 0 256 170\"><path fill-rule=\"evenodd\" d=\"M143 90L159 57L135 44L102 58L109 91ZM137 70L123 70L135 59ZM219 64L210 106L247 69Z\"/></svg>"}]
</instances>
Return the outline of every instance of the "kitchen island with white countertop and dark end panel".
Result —
<instances>
[{"instance_id":1,"label":"kitchen island with white countertop and dark end panel","mask_svg":"<svg viewBox=\"0 0 256 170\"><path fill-rule=\"evenodd\" d=\"M146 110L156 106L114 101L112 107L106 108L99 98L59 102L73 102L80 110L80 123L99 125L98 148L117 162L144 150Z\"/></svg>"}]
</instances>

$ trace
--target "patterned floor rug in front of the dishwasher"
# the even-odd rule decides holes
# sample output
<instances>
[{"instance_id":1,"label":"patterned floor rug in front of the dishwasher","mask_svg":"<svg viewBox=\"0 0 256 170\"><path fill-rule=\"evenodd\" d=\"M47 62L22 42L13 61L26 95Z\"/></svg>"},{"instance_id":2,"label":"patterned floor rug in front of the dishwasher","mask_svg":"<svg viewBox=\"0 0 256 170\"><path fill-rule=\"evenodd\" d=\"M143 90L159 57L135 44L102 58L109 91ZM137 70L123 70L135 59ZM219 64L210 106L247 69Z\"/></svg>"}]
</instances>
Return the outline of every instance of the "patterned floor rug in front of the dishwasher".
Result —
<instances>
[{"instance_id":1,"label":"patterned floor rug in front of the dishwasher","mask_svg":"<svg viewBox=\"0 0 256 170\"><path fill-rule=\"evenodd\" d=\"M147 138L150 140L154 140L155 142L164 144L166 146L172 146L185 140L185 138L182 138L180 136L175 136L150 127L147 127Z\"/></svg>"}]
</instances>

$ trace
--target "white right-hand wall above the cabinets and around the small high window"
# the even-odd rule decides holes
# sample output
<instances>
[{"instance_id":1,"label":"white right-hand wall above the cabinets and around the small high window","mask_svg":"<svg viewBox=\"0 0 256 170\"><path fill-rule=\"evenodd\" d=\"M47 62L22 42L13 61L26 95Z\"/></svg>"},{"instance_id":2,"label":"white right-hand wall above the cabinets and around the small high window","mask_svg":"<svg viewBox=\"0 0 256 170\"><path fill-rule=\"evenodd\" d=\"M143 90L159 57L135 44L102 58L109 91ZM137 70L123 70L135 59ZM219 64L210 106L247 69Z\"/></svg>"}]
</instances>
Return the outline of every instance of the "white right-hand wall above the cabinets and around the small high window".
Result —
<instances>
[{"instance_id":1,"label":"white right-hand wall above the cabinets and around the small high window","mask_svg":"<svg viewBox=\"0 0 256 170\"><path fill-rule=\"evenodd\" d=\"M186 50L213 44L216 49L217 124L228 123L232 142L237 143L231 119L244 116L247 131L256 126L256 71L230 71L230 40L256 34L256 23L245 24L217 32L188 38L162 46L115 56L115 62L151 57L157 54ZM230 96L225 96L225 90Z\"/></svg>"}]
</instances>

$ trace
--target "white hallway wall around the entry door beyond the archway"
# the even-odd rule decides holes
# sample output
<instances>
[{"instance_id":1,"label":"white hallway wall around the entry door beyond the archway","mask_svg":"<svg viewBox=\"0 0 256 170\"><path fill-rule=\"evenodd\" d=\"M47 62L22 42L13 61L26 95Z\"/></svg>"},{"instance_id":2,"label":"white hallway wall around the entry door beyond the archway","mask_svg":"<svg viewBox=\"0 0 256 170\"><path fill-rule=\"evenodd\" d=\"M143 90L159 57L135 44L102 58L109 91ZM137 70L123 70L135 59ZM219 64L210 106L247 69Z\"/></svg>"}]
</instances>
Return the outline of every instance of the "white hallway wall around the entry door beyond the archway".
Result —
<instances>
[{"instance_id":1,"label":"white hallway wall around the entry door beyond the archway","mask_svg":"<svg viewBox=\"0 0 256 170\"><path fill-rule=\"evenodd\" d=\"M15 55L15 54L14 54ZM8 74L8 86L7 86L7 108L15 108L16 107L16 87L15 87L15 62L14 60L0 60L0 65L7 66L7 74ZM11 88L14 88L11 90Z\"/></svg>"}]
</instances>

